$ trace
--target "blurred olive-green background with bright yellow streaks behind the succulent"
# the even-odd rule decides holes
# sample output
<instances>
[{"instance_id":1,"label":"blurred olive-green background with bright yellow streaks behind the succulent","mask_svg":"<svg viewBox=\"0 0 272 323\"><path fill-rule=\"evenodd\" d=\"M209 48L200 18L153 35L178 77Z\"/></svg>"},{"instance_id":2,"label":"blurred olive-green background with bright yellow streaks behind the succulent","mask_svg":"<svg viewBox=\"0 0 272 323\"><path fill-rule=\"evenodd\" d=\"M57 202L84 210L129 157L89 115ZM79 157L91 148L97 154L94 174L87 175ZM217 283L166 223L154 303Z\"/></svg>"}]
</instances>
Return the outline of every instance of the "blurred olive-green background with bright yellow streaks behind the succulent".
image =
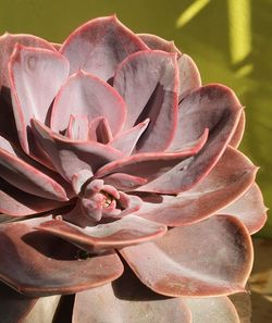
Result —
<instances>
[{"instance_id":1,"label":"blurred olive-green background with bright yellow streaks behind the succulent","mask_svg":"<svg viewBox=\"0 0 272 323\"><path fill-rule=\"evenodd\" d=\"M257 181L272 208L272 1L0 0L0 34L61 42L82 23L112 13L135 33L173 39L196 61L203 84L236 91L247 115L242 150L261 167ZM272 237L272 218L259 236Z\"/></svg>"}]
</instances>

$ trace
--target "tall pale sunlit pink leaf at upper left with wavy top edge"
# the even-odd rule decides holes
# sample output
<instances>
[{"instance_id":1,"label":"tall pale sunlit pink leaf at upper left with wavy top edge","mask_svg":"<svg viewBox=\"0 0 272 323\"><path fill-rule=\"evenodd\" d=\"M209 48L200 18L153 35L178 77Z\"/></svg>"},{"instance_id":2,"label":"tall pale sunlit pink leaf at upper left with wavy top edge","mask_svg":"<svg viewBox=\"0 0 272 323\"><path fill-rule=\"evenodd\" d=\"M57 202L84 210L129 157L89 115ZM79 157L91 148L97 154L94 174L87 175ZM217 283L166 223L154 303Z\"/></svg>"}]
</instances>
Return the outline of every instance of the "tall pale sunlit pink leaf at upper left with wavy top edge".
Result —
<instances>
[{"instance_id":1,"label":"tall pale sunlit pink leaf at upper left with wavy top edge","mask_svg":"<svg viewBox=\"0 0 272 323\"><path fill-rule=\"evenodd\" d=\"M30 119L46 122L50 104L69 75L69 62L57 51L17 45L9 66L18 138L28 152Z\"/></svg>"}]
</instances>

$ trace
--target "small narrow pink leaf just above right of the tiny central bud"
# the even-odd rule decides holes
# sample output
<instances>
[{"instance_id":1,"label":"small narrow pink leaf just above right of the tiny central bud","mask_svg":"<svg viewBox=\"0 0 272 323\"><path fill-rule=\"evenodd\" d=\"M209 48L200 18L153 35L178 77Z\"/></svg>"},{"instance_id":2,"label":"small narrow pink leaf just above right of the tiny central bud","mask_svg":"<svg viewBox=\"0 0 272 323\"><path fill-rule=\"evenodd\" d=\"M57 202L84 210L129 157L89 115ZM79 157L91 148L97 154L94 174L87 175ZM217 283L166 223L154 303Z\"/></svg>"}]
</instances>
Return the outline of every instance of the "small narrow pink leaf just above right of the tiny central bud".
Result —
<instances>
[{"instance_id":1,"label":"small narrow pink leaf just above right of the tiny central bud","mask_svg":"<svg viewBox=\"0 0 272 323\"><path fill-rule=\"evenodd\" d=\"M106 184L112 185L120 190L129 191L147 183L147 179L125 173L114 173L103 177Z\"/></svg>"}]
</instances>

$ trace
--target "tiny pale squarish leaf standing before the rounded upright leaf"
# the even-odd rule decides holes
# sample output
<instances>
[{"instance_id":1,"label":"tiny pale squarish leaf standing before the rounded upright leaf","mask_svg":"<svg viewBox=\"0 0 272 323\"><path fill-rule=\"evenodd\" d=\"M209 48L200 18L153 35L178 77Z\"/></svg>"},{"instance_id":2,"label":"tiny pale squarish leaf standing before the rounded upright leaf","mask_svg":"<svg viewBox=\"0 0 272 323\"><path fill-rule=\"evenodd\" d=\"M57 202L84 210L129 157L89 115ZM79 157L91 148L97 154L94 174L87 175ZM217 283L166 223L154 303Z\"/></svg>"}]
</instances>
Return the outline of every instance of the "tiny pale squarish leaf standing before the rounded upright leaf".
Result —
<instances>
[{"instance_id":1,"label":"tiny pale squarish leaf standing before the rounded upright leaf","mask_svg":"<svg viewBox=\"0 0 272 323\"><path fill-rule=\"evenodd\" d=\"M70 115L65 137L73 140L88 140L89 121L86 115Z\"/></svg>"}]
</instances>

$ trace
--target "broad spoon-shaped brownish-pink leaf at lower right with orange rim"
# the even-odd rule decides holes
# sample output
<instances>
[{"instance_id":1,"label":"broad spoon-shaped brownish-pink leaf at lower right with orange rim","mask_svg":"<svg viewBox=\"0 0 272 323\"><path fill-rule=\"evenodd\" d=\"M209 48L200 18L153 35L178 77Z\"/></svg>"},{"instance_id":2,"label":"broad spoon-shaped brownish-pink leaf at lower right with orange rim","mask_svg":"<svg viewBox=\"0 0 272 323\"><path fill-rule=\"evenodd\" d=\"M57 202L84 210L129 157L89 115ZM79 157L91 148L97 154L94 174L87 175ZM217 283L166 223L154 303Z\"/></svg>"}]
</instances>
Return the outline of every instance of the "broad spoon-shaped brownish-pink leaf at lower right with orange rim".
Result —
<instances>
[{"instance_id":1,"label":"broad spoon-shaped brownish-pink leaf at lower right with orange rim","mask_svg":"<svg viewBox=\"0 0 272 323\"><path fill-rule=\"evenodd\" d=\"M233 216L212 216L170 229L156 243L121 254L139 279L169 296L220 296L242 291L252 266L252 246Z\"/></svg>"}]
</instances>

